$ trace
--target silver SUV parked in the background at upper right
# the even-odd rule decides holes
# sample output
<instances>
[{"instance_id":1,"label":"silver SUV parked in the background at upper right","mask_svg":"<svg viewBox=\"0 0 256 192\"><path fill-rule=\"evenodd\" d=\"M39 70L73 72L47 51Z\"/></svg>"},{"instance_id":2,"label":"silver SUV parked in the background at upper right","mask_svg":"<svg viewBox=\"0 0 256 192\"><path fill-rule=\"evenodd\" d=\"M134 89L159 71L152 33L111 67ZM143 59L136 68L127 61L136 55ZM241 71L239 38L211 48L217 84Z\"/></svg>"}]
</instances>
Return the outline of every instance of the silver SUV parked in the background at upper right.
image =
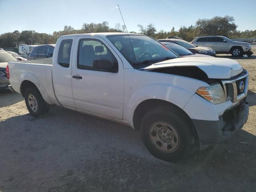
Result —
<instances>
[{"instance_id":1,"label":"silver SUV parked in the background at upper right","mask_svg":"<svg viewBox=\"0 0 256 192\"><path fill-rule=\"evenodd\" d=\"M252 46L249 43L232 41L224 36L197 37L192 42L196 46L210 47L216 53L232 54L232 56L252 55Z\"/></svg>"}]
</instances>

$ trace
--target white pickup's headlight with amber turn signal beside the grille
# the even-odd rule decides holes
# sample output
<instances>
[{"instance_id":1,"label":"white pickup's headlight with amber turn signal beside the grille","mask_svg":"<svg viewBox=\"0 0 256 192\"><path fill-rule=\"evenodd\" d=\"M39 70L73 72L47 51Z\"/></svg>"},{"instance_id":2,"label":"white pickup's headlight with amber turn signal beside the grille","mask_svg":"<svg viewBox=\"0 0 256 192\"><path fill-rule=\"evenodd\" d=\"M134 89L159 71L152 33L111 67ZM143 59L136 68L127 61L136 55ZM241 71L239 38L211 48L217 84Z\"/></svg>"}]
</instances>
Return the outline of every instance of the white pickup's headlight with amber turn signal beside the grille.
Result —
<instances>
[{"instance_id":1,"label":"white pickup's headlight with amber turn signal beside the grille","mask_svg":"<svg viewBox=\"0 0 256 192\"><path fill-rule=\"evenodd\" d=\"M226 101L224 90L219 83L212 84L210 87L200 87L196 93L214 104Z\"/></svg>"}]
</instances>

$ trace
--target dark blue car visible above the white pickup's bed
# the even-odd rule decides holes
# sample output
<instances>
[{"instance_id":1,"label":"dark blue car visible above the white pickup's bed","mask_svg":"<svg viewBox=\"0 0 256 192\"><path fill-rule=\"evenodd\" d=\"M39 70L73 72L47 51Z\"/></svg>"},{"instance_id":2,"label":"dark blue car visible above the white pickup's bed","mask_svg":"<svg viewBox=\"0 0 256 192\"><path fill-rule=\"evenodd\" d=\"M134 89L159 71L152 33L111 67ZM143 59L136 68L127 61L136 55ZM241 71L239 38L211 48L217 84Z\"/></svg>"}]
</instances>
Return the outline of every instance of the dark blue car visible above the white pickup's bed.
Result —
<instances>
[{"instance_id":1,"label":"dark blue car visible above the white pickup's bed","mask_svg":"<svg viewBox=\"0 0 256 192\"><path fill-rule=\"evenodd\" d=\"M29 56L29 59L32 60L32 59L52 58L54 47L55 47L55 44L36 46L32 50Z\"/></svg>"}]
</instances>

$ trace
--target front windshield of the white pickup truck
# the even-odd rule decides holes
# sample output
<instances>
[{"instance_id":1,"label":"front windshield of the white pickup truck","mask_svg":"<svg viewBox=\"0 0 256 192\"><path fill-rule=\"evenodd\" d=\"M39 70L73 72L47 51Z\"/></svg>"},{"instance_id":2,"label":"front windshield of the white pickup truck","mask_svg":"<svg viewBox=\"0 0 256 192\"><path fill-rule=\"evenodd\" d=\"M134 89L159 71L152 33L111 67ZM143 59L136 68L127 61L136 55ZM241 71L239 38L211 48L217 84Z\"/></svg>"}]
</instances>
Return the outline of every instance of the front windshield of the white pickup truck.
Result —
<instances>
[{"instance_id":1,"label":"front windshield of the white pickup truck","mask_svg":"<svg viewBox=\"0 0 256 192\"><path fill-rule=\"evenodd\" d=\"M134 66L136 64L152 64L178 56L158 41L142 35L111 35L107 38L120 53Z\"/></svg>"}]
</instances>

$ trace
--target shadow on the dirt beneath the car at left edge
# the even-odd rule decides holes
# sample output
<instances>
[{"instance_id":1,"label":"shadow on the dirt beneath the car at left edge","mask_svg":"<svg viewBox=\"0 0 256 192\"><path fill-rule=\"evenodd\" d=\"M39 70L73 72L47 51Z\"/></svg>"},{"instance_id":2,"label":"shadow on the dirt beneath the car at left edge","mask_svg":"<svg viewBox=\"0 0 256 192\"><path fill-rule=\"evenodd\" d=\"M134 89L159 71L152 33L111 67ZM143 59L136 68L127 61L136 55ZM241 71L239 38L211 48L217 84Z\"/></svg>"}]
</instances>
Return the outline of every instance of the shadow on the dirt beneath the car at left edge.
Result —
<instances>
[{"instance_id":1,"label":"shadow on the dirt beneath the car at left edge","mask_svg":"<svg viewBox=\"0 0 256 192\"><path fill-rule=\"evenodd\" d=\"M6 99L8 98L8 99ZM24 100L20 94L13 93L10 90L0 90L0 108L4 106L13 105Z\"/></svg>"}]
</instances>

